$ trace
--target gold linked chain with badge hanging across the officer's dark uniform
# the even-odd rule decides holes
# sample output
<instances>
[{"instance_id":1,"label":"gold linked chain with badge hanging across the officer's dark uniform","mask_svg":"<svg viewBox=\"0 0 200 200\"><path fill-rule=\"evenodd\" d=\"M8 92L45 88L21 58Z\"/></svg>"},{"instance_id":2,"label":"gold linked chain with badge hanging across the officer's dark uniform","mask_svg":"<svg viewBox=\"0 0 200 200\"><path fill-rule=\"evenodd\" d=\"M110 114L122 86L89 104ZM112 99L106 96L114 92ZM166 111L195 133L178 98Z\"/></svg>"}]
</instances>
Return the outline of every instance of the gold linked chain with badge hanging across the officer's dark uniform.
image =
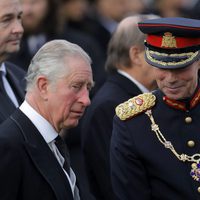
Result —
<instances>
[{"instance_id":1,"label":"gold linked chain with badge hanging across the officer's dark uniform","mask_svg":"<svg viewBox=\"0 0 200 200\"><path fill-rule=\"evenodd\" d=\"M151 120L151 129L152 131L155 132L158 140L164 145L165 148L168 148L172 151L172 153L182 162L192 162L191 164L191 171L190 171L190 175L192 176L192 178L195 181L200 182L200 154L196 153L194 155L187 155L187 154L179 154L177 153L177 151L174 149L174 146L172 145L172 143L168 140L165 139L165 137L163 136L163 134L160 132L159 130L159 126L158 124L155 123L153 115L152 115L152 111L151 110L147 110L145 112L146 115L148 115L149 119Z\"/></svg>"}]
</instances>

